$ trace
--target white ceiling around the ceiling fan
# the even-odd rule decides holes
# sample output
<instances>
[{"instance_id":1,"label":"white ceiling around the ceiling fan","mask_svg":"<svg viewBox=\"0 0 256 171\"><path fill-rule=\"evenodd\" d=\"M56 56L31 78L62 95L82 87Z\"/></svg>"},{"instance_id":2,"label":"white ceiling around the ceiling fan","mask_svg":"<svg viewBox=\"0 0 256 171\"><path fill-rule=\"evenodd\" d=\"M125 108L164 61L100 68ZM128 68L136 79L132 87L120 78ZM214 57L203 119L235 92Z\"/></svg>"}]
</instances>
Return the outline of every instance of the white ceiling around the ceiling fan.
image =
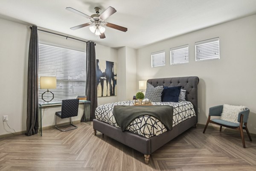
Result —
<instances>
[{"instance_id":1,"label":"white ceiling around the ceiling fan","mask_svg":"<svg viewBox=\"0 0 256 171\"><path fill-rule=\"evenodd\" d=\"M100 39L88 26L75 31L69 29L90 20L67 11L66 7L91 15L96 6L102 12L108 6L114 7L117 12L106 22L127 27L128 31L107 27L106 38ZM256 14L256 0L0 0L0 17L14 18L114 48L137 49L252 14Z\"/></svg>"}]
</instances>

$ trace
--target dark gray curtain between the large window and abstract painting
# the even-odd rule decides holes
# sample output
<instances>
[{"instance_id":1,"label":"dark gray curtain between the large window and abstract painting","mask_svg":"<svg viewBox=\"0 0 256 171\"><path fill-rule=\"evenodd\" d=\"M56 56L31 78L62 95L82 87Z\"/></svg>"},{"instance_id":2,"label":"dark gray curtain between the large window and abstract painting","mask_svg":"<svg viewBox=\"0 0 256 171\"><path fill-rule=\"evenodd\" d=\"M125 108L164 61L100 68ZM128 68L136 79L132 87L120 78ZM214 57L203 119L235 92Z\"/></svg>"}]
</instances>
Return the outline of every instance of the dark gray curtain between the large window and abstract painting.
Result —
<instances>
[{"instance_id":1,"label":"dark gray curtain between the large window and abstract painting","mask_svg":"<svg viewBox=\"0 0 256 171\"><path fill-rule=\"evenodd\" d=\"M97 80L96 80L96 54L95 43L88 41L86 43L86 98L91 101L90 120L95 119L95 109L98 106L97 101ZM85 122L85 116L81 118Z\"/></svg>"}]
</instances>

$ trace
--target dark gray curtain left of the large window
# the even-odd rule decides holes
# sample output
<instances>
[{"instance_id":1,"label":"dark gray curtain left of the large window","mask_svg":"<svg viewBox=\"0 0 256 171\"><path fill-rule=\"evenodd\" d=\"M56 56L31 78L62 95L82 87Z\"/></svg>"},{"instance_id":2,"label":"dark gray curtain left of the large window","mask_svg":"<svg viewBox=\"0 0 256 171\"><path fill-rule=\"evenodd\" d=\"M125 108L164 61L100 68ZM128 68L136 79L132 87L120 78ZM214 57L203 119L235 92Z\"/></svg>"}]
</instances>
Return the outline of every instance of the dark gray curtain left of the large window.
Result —
<instances>
[{"instance_id":1,"label":"dark gray curtain left of the large window","mask_svg":"<svg viewBox=\"0 0 256 171\"><path fill-rule=\"evenodd\" d=\"M29 41L26 135L38 133L38 29L32 26Z\"/></svg>"}]
</instances>

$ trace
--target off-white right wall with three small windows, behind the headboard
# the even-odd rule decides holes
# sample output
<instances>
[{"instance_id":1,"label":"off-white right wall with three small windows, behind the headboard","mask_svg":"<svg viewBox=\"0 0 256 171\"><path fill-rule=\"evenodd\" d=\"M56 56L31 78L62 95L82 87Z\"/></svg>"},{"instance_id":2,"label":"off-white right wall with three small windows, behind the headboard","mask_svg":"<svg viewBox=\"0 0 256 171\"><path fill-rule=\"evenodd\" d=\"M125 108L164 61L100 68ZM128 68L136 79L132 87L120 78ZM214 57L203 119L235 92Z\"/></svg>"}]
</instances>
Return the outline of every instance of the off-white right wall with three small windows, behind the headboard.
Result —
<instances>
[{"instance_id":1,"label":"off-white right wall with three small windows, behind the headboard","mask_svg":"<svg viewBox=\"0 0 256 171\"><path fill-rule=\"evenodd\" d=\"M220 39L220 59L195 62L195 42ZM169 49L189 44L189 64L170 65ZM250 109L248 129L256 133L256 15L170 38L137 50L137 81L148 78L198 76L198 123L209 107L244 105ZM151 52L166 51L166 65L151 68Z\"/></svg>"}]
</instances>

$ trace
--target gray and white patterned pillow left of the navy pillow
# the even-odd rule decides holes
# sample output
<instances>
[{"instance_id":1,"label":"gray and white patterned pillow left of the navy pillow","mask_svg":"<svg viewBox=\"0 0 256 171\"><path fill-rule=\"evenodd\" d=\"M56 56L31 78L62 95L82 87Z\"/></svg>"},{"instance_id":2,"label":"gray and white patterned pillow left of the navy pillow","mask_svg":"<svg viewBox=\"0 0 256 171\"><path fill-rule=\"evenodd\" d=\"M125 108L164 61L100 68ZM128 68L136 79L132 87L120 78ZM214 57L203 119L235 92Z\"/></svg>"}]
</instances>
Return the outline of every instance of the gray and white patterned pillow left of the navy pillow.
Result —
<instances>
[{"instance_id":1,"label":"gray and white patterned pillow left of the navy pillow","mask_svg":"<svg viewBox=\"0 0 256 171\"><path fill-rule=\"evenodd\" d=\"M151 84L147 83L145 99L149 99L154 102L159 102L161 101L162 91L163 91L163 86L154 87Z\"/></svg>"}]
</instances>

